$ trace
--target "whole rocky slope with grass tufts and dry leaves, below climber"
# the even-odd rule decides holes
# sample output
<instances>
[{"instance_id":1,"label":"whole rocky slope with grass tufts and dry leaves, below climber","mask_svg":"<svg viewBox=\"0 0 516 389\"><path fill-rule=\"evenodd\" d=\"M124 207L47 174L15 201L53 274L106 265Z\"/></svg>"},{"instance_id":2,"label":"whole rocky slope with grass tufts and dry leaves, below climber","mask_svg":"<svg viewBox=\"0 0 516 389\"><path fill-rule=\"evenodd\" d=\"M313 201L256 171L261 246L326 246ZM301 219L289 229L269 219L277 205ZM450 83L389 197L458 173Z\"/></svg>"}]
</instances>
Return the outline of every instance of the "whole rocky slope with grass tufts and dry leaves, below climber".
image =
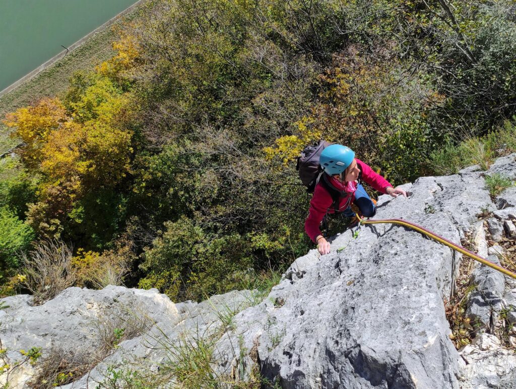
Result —
<instances>
[{"instance_id":1,"label":"whole rocky slope with grass tufts and dry leaves, below climber","mask_svg":"<svg viewBox=\"0 0 516 389\"><path fill-rule=\"evenodd\" d=\"M484 176L515 179L515 161L512 154L485 173L471 166L421 177L404 185L408 198L381 196L375 218L407 219L458 244L469 240L480 255L508 265L513 236L493 226L516 218L516 191L492 199ZM23 359L21 348L42 348L34 366L25 363L11 376L13 387L50 366L72 372L74 382L61 389L514 387L513 279L404 227L363 226L356 239L353 233L334 236L329 255L311 250L296 259L267 295L234 291L174 303L157 290L107 286L72 287L41 306L27 295L4 298L4 360ZM456 313L472 324L459 350L450 334L463 327L448 322L458 295L463 310ZM74 363L92 369L79 377Z\"/></svg>"}]
</instances>

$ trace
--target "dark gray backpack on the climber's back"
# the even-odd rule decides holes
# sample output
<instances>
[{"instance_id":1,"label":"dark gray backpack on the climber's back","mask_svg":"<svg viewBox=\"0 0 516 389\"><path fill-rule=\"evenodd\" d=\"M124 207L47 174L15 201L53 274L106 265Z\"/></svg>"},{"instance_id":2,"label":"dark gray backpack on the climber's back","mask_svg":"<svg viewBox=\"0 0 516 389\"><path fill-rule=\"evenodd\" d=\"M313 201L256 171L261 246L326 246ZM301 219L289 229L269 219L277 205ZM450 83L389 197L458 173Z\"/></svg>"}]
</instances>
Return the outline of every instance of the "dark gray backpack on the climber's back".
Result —
<instances>
[{"instance_id":1,"label":"dark gray backpack on the climber's back","mask_svg":"<svg viewBox=\"0 0 516 389\"><path fill-rule=\"evenodd\" d=\"M303 148L301 155L297 157L296 170L299 172L301 182L307 187L308 193L314 193L315 185L317 185L319 181L326 187L333 199L332 207L335 209L335 212L337 212L343 193L330 183L325 174L322 174L319 163L322 150L331 144L330 142L321 140L316 145L309 145ZM323 177L322 180L320 180L321 177Z\"/></svg>"}]
</instances>

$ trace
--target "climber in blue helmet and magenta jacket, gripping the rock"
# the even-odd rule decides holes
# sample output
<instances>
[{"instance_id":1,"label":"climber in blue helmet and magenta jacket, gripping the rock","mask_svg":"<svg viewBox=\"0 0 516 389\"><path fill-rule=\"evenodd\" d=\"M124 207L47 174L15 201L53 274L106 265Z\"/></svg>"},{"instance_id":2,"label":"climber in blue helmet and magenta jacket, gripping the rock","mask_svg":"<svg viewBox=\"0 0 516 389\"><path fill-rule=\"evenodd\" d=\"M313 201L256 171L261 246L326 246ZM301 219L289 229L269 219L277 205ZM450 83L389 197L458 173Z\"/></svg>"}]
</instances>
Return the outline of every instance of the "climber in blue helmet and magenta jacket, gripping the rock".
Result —
<instances>
[{"instance_id":1,"label":"climber in blue helmet and magenta jacket, gripping the rock","mask_svg":"<svg viewBox=\"0 0 516 389\"><path fill-rule=\"evenodd\" d=\"M351 204L355 204L365 217L376 213L376 201L365 192L361 180L383 194L407 197L404 190L393 188L389 181L355 158L349 147L339 144L327 146L320 154L319 163L323 172L315 186L304 229L321 255L330 252L330 243L320 231L320 223L327 213L352 217Z\"/></svg>"}]
</instances>

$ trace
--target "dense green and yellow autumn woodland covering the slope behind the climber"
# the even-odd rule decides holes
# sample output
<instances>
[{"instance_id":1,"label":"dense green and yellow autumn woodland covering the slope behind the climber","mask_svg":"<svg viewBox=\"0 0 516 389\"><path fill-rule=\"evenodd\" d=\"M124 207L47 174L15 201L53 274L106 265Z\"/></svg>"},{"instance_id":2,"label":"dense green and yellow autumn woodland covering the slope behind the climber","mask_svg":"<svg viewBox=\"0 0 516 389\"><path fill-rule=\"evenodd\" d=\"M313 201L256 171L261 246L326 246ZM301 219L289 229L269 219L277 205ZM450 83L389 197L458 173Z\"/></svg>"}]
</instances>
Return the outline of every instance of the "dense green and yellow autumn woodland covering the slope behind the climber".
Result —
<instances>
[{"instance_id":1,"label":"dense green and yellow autumn woodland covering the slope behind the climber","mask_svg":"<svg viewBox=\"0 0 516 389\"><path fill-rule=\"evenodd\" d=\"M248 285L311 245L294 158L321 138L395 184L514 149L515 23L509 0L150 1L114 58L7 115L3 293L43 240L78 285Z\"/></svg>"}]
</instances>

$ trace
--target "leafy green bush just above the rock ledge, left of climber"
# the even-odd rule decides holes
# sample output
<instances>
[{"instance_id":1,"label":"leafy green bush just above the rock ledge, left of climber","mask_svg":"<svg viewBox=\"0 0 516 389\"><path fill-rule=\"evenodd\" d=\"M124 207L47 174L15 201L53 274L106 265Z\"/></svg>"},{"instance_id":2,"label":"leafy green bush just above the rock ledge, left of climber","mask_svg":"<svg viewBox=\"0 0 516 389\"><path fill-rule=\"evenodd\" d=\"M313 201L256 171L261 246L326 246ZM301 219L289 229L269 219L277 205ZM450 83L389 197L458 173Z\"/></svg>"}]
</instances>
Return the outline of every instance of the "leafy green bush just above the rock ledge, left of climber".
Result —
<instances>
[{"instance_id":1,"label":"leafy green bush just above the rock ledge, left of climber","mask_svg":"<svg viewBox=\"0 0 516 389\"><path fill-rule=\"evenodd\" d=\"M239 235L214 238L185 217L165 223L165 228L145 251L140 268L150 277L143 278L140 287L157 284L173 301L203 299L233 289L235 275L251 265Z\"/></svg>"}]
</instances>

